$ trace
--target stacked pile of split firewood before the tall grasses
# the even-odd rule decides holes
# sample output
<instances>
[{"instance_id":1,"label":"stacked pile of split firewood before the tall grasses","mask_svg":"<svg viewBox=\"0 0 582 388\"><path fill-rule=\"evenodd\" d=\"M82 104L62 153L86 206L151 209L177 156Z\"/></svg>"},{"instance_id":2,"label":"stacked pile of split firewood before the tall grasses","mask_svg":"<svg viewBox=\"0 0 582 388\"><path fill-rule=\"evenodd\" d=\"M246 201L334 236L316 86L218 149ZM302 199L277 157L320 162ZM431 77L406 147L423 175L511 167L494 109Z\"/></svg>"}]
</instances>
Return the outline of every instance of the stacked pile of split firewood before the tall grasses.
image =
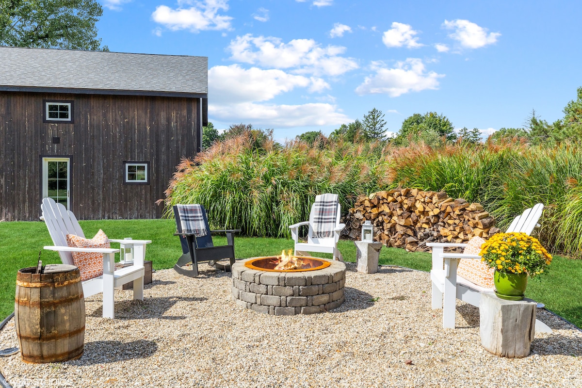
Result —
<instances>
[{"instance_id":1,"label":"stacked pile of split firewood before the tall grasses","mask_svg":"<svg viewBox=\"0 0 582 388\"><path fill-rule=\"evenodd\" d=\"M473 236L487 239L499 232L480 204L416 188L360 195L343 219L342 235L359 239L365 220L374 226L374 241L408 251L430 250L429 242L466 243Z\"/></svg>"}]
</instances>

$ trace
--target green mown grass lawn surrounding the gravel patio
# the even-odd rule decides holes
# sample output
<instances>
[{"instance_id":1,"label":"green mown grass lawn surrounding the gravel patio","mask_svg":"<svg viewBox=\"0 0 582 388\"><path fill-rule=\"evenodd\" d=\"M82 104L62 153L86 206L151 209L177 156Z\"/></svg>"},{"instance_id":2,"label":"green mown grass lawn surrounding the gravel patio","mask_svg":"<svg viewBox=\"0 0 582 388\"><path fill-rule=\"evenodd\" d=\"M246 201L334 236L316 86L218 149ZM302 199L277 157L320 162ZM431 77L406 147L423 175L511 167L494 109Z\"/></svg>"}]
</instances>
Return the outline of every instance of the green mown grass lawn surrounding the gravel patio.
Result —
<instances>
[{"instance_id":1,"label":"green mown grass lawn surrounding the gravel patio","mask_svg":"<svg viewBox=\"0 0 582 388\"><path fill-rule=\"evenodd\" d=\"M171 268L182 254L179 239L173 236L174 220L99 220L81 221L87 237L93 237L101 228L111 239L148 239L146 258L154 269ZM215 244L226 243L226 238L215 236ZM14 309L16 272L20 268L35 266L38 252L44 245L52 245L47 227L42 222L0 222L0 319ZM112 244L118 248L119 244ZM272 255L293 248L292 240L236 237L237 258ZM346 261L356 261L356 247L352 241L339 241L339 249ZM322 254L331 258L331 255ZM61 262L58 254L42 250L44 264ZM406 252L396 248L382 248L380 264L400 265L429 271L430 254ZM530 280L526 296L542 302L546 308L582 327L582 260L555 256L549 273Z\"/></svg>"}]
</instances>

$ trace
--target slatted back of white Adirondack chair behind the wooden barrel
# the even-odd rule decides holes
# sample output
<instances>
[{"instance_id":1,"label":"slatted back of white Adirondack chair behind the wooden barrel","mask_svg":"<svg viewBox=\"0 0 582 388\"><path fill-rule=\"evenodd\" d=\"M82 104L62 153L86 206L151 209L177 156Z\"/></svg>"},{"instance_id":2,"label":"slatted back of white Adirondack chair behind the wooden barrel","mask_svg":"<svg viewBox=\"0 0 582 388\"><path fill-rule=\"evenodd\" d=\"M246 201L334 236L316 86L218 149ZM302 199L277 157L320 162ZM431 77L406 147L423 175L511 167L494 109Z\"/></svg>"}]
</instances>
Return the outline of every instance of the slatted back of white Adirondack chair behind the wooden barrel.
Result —
<instances>
[{"instance_id":1,"label":"slatted back of white Adirondack chair behind the wooden barrel","mask_svg":"<svg viewBox=\"0 0 582 388\"><path fill-rule=\"evenodd\" d=\"M67 246L67 234L85 237L83 229L72 211L68 211L62 204L57 204L52 198L42 200L42 218L51 235L52 243L58 247ZM73 265L71 252L59 252L63 264Z\"/></svg>"}]
</instances>

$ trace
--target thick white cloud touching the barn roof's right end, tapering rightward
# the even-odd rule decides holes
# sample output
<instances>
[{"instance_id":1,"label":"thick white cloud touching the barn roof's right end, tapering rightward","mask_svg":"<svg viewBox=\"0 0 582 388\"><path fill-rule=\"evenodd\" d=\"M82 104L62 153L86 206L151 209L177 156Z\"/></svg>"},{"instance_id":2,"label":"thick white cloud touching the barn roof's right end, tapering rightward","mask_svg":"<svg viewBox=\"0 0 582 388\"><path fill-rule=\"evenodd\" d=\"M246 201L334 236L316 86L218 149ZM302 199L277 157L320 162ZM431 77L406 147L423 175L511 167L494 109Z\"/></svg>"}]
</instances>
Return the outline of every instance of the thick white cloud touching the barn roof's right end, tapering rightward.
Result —
<instances>
[{"instance_id":1,"label":"thick white cloud touching the barn roof's right end, tapering rightward","mask_svg":"<svg viewBox=\"0 0 582 388\"><path fill-rule=\"evenodd\" d=\"M208 70L208 94L212 101L221 105L268 101L296 87L314 92L328 89L329 85L320 78L297 76L276 69L243 69L239 65L230 65L214 66Z\"/></svg>"}]
</instances>

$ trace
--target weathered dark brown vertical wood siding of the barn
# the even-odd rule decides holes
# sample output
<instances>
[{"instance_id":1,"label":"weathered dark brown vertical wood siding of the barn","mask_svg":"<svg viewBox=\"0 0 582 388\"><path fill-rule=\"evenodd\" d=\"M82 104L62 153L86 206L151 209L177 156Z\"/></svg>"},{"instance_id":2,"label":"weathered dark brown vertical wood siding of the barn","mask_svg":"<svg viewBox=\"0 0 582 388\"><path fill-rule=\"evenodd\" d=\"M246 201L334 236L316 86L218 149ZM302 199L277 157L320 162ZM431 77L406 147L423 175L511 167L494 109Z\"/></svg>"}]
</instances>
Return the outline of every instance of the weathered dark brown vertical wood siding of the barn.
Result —
<instances>
[{"instance_id":1,"label":"weathered dark brown vertical wood siding of the barn","mask_svg":"<svg viewBox=\"0 0 582 388\"><path fill-rule=\"evenodd\" d=\"M43 99L72 100L74 123L43 123ZM196 153L198 98L0 92L0 220L38 220L41 155L70 155L79 219L159 218L183 156ZM60 138L53 144L52 138ZM149 161L149 185L124 185L123 161Z\"/></svg>"}]
</instances>

